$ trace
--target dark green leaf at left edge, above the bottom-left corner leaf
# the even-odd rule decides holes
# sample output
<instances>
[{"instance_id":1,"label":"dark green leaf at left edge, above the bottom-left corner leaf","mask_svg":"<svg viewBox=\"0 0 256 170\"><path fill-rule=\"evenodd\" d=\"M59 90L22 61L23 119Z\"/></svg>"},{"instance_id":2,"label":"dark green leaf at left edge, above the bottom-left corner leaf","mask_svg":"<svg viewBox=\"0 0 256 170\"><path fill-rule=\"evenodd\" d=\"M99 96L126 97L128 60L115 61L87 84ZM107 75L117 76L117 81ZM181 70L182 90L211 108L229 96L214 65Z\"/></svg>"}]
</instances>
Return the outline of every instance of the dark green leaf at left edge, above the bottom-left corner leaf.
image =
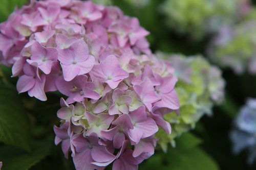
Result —
<instances>
[{"instance_id":1,"label":"dark green leaf at left edge, above the bottom-left corner leaf","mask_svg":"<svg viewBox=\"0 0 256 170\"><path fill-rule=\"evenodd\" d=\"M0 141L30 151L29 121L16 88L0 82Z\"/></svg>"}]
</instances>

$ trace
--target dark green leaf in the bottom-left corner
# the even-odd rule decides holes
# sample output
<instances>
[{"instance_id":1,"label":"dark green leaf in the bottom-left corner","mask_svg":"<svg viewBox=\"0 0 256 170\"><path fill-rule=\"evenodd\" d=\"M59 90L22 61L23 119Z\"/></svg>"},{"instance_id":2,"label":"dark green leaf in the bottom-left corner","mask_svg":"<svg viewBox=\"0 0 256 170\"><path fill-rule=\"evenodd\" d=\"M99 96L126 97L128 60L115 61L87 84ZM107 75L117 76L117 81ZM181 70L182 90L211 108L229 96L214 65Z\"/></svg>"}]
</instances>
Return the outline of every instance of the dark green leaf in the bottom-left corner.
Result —
<instances>
[{"instance_id":1,"label":"dark green leaf in the bottom-left corner","mask_svg":"<svg viewBox=\"0 0 256 170\"><path fill-rule=\"evenodd\" d=\"M3 161L2 170L29 169L50 154L52 143L52 140L34 141L31 143L31 153L8 145L0 147L0 160Z\"/></svg>"}]
</instances>

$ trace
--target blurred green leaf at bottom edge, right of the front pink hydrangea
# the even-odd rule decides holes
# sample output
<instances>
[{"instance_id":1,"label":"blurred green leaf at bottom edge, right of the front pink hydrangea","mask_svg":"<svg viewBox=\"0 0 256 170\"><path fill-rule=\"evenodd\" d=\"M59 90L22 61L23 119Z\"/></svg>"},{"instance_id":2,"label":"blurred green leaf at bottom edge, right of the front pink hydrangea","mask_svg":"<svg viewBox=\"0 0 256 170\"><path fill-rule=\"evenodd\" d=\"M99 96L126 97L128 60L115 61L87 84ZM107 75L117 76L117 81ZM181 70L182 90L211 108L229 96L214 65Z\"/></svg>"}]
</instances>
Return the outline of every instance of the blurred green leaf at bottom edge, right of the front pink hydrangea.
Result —
<instances>
[{"instance_id":1,"label":"blurred green leaf at bottom edge, right of the front pink hydrangea","mask_svg":"<svg viewBox=\"0 0 256 170\"><path fill-rule=\"evenodd\" d=\"M166 154L157 152L145 163L141 170L218 170L216 162L198 145L201 140L191 133L185 133L177 139L177 147L171 148Z\"/></svg>"}]
</instances>

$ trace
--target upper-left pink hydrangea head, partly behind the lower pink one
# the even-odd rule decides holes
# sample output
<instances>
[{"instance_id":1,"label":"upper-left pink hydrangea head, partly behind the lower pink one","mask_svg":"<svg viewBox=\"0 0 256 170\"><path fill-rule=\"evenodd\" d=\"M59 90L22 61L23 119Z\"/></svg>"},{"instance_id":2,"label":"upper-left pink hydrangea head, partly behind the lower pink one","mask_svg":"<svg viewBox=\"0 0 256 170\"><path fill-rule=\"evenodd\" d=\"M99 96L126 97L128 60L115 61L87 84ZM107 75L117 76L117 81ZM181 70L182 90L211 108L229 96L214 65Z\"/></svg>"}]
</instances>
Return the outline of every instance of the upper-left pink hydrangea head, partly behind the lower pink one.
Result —
<instances>
[{"instance_id":1,"label":"upper-left pink hydrangea head, partly behind the lower pink one","mask_svg":"<svg viewBox=\"0 0 256 170\"><path fill-rule=\"evenodd\" d=\"M144 38L148 32L137 18L90 1L31 1L1 23L0 31L1 61L14 64L18 91L42 101L47 100L47 91L68 95L67 82L87 74L112 51L151 54ZM100 59L101 55L105 57Z\"/></svg>"}]
</instances>

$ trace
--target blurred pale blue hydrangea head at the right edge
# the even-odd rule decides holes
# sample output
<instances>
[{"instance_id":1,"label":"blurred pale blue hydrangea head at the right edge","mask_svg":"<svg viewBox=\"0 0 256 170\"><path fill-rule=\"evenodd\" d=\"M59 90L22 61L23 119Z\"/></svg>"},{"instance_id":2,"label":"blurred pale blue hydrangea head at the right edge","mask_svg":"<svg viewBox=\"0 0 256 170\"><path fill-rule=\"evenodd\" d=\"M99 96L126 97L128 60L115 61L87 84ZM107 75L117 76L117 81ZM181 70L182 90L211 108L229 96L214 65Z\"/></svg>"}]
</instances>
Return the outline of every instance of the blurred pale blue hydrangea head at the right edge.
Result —
<instances>
[{"instance_id":1,"label":"blurred pale blue hydrangea head at the right edge","mask_svg":"<svg viewBox=\"0 0 256 170\"><path fill-rule=\"evenodd\" d=\"M230 133L234 154L249 150L248 163L256 160L256 99L249 99L234 122Z\"/></svg>"}]
</instances>

